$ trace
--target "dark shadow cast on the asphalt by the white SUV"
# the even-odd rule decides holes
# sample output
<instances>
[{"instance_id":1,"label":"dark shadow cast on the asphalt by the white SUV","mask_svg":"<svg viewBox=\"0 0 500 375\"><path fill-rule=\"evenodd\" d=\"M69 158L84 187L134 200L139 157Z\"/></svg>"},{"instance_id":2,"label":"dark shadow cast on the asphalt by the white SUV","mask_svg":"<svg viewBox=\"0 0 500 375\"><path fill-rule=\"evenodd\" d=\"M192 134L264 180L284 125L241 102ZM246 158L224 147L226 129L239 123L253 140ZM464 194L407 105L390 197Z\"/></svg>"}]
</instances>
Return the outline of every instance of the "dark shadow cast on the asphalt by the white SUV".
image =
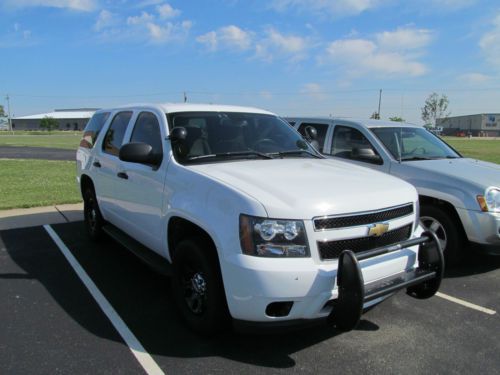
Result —
<instances>
[{"instance_id":1,"label":"dark shadow cast on the asphalt by the white SUV","mask_svg":"<svg viewBox=\"0 0 500 375\"><path fill-rule=\"evenodd\" d=\"M323 324L283 334L226 332L215 338L202 338L181 324L172 305L168 278L154 273L110 239L99 244L90 242L81 222L53 228L145 349L167 357L163 360L172 362L172 366L172 357L218 356L257 366L290 368L296 365L293 353L340 334ZM83 328L121 342L43 228L3 231L0 240L10 258L25 272L0 274L0 279L38 280ZM376 331L379 327L362 320L358 329Z\"/></svg>"}]
</instances>

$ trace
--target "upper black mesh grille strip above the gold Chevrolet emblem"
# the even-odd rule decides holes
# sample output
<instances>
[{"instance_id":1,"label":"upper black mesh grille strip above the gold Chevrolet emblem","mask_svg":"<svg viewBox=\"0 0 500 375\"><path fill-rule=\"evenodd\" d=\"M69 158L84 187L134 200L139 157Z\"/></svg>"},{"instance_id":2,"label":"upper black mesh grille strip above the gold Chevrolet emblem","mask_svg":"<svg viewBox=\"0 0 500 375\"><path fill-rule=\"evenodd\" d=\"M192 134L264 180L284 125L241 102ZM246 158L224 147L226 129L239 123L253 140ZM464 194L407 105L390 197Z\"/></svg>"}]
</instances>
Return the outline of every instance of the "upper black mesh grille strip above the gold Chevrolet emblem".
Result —
<instances>
[{"instance_id":1,"label":"upper black mesh grille strip above the gold Chevrolet emblem","mask_svg":"<svg viewBox=\"0 0 500 375\"><path fill-rule=\"evenodd\" d=\"M407 216L413 213L413 204L391 208L384 211L372 212L361 215L340 216L340 217L327 217L324 219L314 220L314 228L316 230L335 229L356 227L359 225L366 225L377 223L380 221L387 221L397 219L399 217Z\"/></svg>"}]
</instances>

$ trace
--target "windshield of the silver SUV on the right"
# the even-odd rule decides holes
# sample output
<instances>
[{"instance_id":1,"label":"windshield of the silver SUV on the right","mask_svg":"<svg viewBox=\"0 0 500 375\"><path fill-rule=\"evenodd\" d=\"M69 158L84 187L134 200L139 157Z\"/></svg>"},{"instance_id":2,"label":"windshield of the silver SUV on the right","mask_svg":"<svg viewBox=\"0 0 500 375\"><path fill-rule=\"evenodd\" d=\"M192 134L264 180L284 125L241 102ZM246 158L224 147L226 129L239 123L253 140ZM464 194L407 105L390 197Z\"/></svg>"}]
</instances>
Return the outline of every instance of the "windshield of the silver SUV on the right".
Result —
<instances>
[{"instance_id":1,"label":"windshield of the silver SUV on the right","mask_svg":"<svg viewBox=\"0 0 500 375\"><path fill-rule=\"evenodd\" d=\"M371 128L396 160L452 159L461 157L424 128Z\"/></svg>"}]
</instances>

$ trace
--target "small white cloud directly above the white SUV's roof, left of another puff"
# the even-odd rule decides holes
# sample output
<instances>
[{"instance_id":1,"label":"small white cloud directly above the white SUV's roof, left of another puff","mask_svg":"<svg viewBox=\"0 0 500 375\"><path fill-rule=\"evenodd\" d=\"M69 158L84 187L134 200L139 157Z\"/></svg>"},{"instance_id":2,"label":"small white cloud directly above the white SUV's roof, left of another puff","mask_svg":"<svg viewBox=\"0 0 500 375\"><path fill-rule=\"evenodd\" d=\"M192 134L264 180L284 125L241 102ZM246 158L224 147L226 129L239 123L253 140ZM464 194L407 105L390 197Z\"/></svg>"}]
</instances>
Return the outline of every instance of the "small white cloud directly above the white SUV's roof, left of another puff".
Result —
<instances>
[{"instance_id":1,"label":"small white cloud directly above the white SUV's roof, left of another puff","mask_svg":"<svg viewBox=\"0 0 500 375\"><path fill-rule=\"evenodd\" d=\"M210 51L220 48L245 51L252 46L252 34L238 26L229 25L200 35L196 41L204 44Z\"/></svg>"}]
</instances>

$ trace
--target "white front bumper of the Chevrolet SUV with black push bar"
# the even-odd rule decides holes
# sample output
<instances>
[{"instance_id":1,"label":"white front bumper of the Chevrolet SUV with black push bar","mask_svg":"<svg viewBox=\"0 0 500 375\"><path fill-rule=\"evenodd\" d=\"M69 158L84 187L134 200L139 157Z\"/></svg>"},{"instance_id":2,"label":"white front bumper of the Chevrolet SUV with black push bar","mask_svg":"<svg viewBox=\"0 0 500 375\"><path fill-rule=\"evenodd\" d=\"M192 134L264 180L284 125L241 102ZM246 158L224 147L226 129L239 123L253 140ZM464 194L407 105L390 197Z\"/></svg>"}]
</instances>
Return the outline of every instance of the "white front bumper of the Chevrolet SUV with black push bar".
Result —
<instances>
[{"instance_id":1,"label":"white front bumper of the Chevrolet SUV with black push bar","mask_svg":"<svg viewBox=\"0 0 500 375\"><path fill-rule=\"evenodd\" d=\"M417 252L420 253L419 266L415 267ZM439 244L434 235L427 233L357 255L346 250L338 262L317 264L312 258L235 255L222 266L223 279L232 280L225 283L225 290L234 319L259 325L280 325L285 321L330 317L343 329L347 324L339 323L342 320L339 316L354 316L357 321L363 308L383 301L402 288L414 288L416 297L423 296L418 288L433 295L439 287L443 269ZM353 278L356 287L351 285ZM433 286L429 287L431 284ZM354 304L351 303L353 295L357 299ZM293 302L288 314L266 314L270 304L280 302Z\"/></svg>"}]
</instances>

